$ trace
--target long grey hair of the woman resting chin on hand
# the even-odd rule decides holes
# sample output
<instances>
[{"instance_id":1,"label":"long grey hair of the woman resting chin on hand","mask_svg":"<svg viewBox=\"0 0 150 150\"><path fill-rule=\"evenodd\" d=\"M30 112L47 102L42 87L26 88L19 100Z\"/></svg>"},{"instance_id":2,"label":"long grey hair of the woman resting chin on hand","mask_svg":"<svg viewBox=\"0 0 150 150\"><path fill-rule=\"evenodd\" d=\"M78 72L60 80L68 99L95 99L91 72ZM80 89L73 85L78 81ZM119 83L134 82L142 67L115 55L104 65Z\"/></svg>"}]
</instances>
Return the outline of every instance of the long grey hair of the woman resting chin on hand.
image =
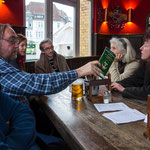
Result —
<instances>
[{"instance_id":1,"label":"long grey hair of the woman resting chin on hand","mask_svg":"<svg viewBox=\"0 0 150 150\"><path fill-rule=\"evenodd\" d=\"M126 48L124 46L124 42L126 43ZM124 50L126 50L126 53L122 57L123 63L129 63L136 59L136 52L133 46L131 45L130 41L127 38L112 38L110 40L111 43L116 43L118 50L121 54L123 54Z\"/></svg>"}]
</instances>

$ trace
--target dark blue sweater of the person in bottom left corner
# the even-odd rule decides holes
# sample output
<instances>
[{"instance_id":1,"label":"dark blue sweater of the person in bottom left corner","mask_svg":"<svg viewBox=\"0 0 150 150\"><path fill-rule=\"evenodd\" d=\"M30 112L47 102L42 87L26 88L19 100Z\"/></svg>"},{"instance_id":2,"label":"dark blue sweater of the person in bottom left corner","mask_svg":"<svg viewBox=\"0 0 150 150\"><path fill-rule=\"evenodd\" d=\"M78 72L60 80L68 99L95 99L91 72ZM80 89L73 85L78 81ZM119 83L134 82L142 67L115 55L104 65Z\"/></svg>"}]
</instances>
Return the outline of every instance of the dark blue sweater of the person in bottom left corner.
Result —
<instances>
[{"instance_id":1,"label":"dark blue sweater of the person in bottom left corner","mask_svg":"<svg viewBox=\"0 0 150 150\"><path fill-rule=\"evenodd\" d=\"M39 150L35 138L35 121L29 107L0 92L0 149Z\"/></svg>"}]
</instances>

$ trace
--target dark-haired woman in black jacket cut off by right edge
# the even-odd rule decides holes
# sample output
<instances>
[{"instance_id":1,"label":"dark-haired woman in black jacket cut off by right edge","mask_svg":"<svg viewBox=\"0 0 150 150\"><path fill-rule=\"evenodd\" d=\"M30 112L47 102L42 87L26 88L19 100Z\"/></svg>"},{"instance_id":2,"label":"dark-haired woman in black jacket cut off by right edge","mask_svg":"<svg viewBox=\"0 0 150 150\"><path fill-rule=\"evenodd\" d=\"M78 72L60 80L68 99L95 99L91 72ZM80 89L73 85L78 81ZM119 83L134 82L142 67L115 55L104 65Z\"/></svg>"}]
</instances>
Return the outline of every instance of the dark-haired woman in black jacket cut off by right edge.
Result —
<instances>
[{"instance_id":1,"label":"dark-haired woman in black jacket cut off by right edge","mask_svg":"<svg viewBox=\"0 0 150 150\"><path fill-rule=\"evenodd\" d=\"M123 97L147 100L150 94L150 29L145 33L144 41L140 48L139 68L132 76L111 84L112 89L121 92Z\"/></svg>"}]
</instances>

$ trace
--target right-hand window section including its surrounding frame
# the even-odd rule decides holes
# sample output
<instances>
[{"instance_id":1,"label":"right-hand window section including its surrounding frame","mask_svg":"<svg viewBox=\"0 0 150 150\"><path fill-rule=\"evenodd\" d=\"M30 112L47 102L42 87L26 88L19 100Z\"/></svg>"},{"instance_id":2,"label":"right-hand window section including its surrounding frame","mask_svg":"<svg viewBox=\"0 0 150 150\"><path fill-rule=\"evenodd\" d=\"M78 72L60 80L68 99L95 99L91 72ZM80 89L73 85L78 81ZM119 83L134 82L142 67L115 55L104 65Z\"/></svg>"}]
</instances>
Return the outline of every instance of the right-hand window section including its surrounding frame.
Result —
<instances>
[{"instance_id":1,"label":"right-hand window section including its surrounding frame","mask_svg":"<svg viewBox=\"0 0 150 150\"><path fill-rule=\"evenodd\" d=\"M53 40L55 51L66 57L79 56L79 7L77 6L79 6L78 0L47 0L46 12L49 14L46 25L47 37Z\"/></svg>"}]
</instances>

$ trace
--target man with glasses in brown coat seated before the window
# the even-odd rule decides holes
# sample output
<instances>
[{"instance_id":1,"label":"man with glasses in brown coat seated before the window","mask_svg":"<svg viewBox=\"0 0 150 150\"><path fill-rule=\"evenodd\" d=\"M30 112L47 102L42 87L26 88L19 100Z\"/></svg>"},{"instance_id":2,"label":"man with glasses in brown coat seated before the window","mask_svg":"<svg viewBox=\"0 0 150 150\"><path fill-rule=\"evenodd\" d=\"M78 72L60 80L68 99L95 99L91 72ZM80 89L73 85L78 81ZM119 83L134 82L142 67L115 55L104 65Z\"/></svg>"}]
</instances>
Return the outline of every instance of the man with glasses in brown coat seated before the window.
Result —
<instances>
[{"instance_id":1,"label":"man with glasses in brown coat seated before the window","mask_svg":"<svg viewBox=\"0 0 150 150\"><path fill-rule=\"evenodd\" d=\"M35 73L52 73L70 70L64 56L54 51L53 43L50 39L45 39L40 43L40 59L35 62Z\"/></svg>"}]
</instances>

